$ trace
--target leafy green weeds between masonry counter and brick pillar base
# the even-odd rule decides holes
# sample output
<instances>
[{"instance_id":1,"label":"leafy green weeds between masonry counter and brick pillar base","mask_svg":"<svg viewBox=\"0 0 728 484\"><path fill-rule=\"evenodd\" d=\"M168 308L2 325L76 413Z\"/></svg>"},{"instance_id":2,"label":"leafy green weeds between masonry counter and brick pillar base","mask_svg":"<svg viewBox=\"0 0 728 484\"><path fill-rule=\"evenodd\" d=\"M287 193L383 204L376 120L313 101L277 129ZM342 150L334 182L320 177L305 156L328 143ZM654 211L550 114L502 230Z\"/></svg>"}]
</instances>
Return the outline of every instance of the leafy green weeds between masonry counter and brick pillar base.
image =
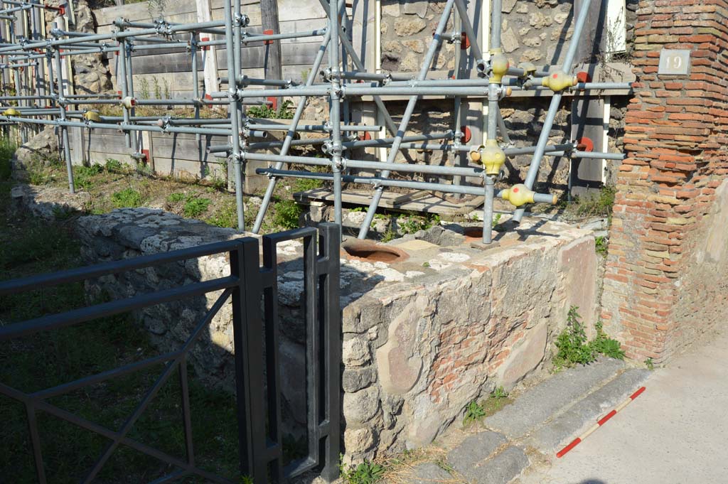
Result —
<instances>
[{"instance_id":1,"label":"leafy green weeds between masonry counter and brick pillar base","mask_svg":"<svg viewBox=\"0 0 728 484\"><path fill-rule=\"evenodd\" d=\"M596 337L587 341L587 335L579 321L581 318L577 312L577 306L571 306L569 314L566 317L566 328L556 338L556 348L558 352L553 358L554 368L561 370L562 368L571 368L574 365L587 365L597 359L600 354L606 357L624 360L625 352L620 342L616 341L604 333L601 321L595 325Z\"/></svg>"}]
</instances>

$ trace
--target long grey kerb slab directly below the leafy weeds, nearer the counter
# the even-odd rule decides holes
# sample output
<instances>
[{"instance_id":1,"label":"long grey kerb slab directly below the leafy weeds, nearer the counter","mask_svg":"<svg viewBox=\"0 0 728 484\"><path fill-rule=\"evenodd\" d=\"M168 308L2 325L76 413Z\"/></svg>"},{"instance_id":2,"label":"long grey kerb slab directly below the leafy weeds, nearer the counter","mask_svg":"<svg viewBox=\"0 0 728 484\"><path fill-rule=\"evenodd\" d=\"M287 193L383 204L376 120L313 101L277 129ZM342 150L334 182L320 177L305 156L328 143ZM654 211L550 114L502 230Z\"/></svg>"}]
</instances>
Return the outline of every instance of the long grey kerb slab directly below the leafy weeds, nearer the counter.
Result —
<instances>
[{"instance_id":1,"label":"long grey kerb slab directly below the leafy weeds, nearer the counter","mask_svg":"<svg viewBox=\"0 0 728 484\"><path fill-rule=\"evenodd\" d=\"M625 363L604 359L587 366L570 368L534 386L493 416L485 419L488 428L519 438L531 432L555 413L568 408L590 390L612 378Z\"/></svg>"}]
</instances>

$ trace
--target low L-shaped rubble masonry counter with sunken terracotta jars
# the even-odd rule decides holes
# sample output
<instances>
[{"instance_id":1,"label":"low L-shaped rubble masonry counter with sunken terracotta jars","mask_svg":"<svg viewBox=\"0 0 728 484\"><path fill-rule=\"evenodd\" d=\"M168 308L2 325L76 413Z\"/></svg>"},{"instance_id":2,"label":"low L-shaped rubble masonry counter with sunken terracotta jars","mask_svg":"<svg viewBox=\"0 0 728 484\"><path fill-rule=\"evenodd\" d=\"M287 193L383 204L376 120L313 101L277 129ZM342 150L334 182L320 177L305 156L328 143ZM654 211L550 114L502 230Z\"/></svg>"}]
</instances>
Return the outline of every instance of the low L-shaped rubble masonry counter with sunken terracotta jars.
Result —
<instances>
[{"instance_id":1,"label":"low L-shaped rubble masonry counter with sunken terracotta jars","mask_svg":"<svg viewBox=\"0 0 728 484\"><path fill-rule=\"evenodd\" d=\"M500 247L483 251L460 234L438 229L451 245L408 237L392 242L408 255L400 261L341 259L347 459L427 445L462 418L472 400L496 385L510 389L544 368L569 306L579 306L587 325L596 320L597 261L590 231L527 219L517 232L503 234ZM90 262L240 237L232 229L146 208L82 217L78 232ZM305 381L301 243L281 244L278 260L283 413L301 424L305 409L297 411L296 403ZM130 297L228 271L225 256L215 255L101 278L87 290ZM169 349L216 297L155 306L137 317L154 342ZM207 384L232 384L231 319L226 305L191 355Z\"/></svg>"}]
</instances>

